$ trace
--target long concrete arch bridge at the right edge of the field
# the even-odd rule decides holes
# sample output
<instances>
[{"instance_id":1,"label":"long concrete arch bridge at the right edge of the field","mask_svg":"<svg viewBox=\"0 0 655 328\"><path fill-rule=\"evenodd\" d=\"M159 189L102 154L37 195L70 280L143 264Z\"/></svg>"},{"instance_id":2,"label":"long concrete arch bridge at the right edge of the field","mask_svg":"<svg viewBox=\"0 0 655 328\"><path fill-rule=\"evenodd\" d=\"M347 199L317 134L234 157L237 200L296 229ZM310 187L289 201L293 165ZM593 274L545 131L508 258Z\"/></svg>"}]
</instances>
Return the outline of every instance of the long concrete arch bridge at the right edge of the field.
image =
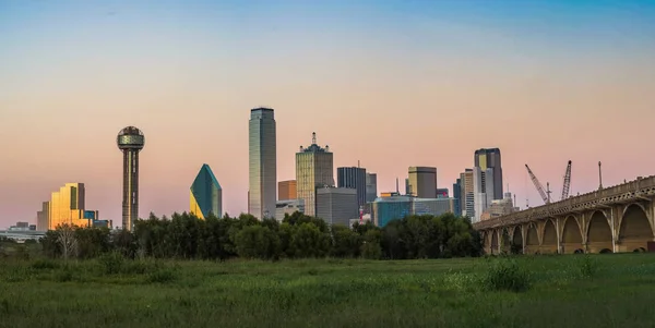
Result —
<instances>
[{"instance_id":1,"label":"long concrete arch bridge at the right edge of the field","mask_svg":"<svg viewBox=\"0 0 655 328\"><path fill-rule=\"evenodd\" d=\"M487 254L645 252L655 241L655 175L474 223Z\"/></svg>"}]
</instances>

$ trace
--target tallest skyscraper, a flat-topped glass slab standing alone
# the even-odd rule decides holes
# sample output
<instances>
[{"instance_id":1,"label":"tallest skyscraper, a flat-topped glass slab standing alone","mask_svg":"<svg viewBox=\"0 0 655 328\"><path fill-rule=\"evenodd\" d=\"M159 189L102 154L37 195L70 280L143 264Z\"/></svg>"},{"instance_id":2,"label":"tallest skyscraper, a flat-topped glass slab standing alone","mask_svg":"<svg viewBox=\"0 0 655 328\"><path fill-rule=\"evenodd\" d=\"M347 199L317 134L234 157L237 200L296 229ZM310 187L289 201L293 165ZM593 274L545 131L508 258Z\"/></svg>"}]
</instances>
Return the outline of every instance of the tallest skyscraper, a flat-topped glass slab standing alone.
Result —
<instances>
[{"instance_id":1,"label":"tallest skyscraper, a flat-topped glass slab standing alone","mask_svg":"<svg viewBox=\"0 0 655 328\"><path fill-rule=\"evenodd\" d=\"M273 109L255 108L250 110L248 211L259 219L275 217L275 205L277 203L277 150L275 138Z\"/></svg>"}]
</instances>

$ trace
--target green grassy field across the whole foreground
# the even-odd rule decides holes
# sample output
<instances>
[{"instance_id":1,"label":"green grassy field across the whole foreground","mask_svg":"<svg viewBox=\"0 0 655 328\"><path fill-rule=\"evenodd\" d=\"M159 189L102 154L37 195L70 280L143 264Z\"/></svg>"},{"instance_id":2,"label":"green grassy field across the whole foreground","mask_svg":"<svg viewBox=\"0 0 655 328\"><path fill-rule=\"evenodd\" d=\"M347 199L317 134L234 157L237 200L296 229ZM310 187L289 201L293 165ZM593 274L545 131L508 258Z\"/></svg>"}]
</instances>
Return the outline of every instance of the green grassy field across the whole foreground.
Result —
<instances>
[{"instance_id":1,"label":"green grassy field across the whole foreground","mask_svg":"<svg viewBox=\"0 0 655 328\"><path fill-rule=\"evenodd\" d=\"M517 290L513 292L510 290ZM523 291L520 291L523 290ZM655 256L0 263L0 327L653 327Z\"/></svg>"}]
</instances>

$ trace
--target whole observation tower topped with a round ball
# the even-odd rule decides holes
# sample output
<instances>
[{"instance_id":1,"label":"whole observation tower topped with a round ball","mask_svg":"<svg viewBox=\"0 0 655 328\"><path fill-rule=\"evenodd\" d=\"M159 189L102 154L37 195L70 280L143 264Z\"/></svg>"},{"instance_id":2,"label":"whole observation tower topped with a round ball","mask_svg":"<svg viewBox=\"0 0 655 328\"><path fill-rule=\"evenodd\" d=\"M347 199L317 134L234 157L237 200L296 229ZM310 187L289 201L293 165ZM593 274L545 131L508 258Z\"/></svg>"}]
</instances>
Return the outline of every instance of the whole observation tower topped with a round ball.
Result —
<instances>
[{"instance_id":1,"label":"whole observation tower topped with a round ball","mask_svg":"<svg viewBox=\"0 0 655 328\"><path fill-rule=\"evenodd\" d=\"M118 148L123 153L122 228L132 230L139 219L139 151L145 145L145 136L128 126L118 133Z\"/></svg>"}]
</instances>

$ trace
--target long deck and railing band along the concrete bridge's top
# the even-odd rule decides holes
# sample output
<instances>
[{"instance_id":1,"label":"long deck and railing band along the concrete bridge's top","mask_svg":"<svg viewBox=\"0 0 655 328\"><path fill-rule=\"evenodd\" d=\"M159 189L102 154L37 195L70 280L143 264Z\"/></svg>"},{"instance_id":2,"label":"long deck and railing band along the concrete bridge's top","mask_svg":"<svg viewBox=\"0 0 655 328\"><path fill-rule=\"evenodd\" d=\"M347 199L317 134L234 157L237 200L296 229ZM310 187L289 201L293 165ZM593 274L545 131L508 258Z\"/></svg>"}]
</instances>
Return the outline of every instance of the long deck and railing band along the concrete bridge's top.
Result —
<instances>
[{"instance_id":1,"label":"long deck and railing band along the concrete bridge's top","mask_svg":"<svg viewBox=\"0 0 655 328\"><path fill-rule=\"evenodd\" d=\"M473 228L476 230L485 230L525 223L532 220L586 210L603 205L617 204L650 195L655 195L655 175L638 178L636 180L627 183L594 191L580 196L572 196L564 201L545 204L507 216L476 222L473 224Z\"/></svg>"}]
</instances>

